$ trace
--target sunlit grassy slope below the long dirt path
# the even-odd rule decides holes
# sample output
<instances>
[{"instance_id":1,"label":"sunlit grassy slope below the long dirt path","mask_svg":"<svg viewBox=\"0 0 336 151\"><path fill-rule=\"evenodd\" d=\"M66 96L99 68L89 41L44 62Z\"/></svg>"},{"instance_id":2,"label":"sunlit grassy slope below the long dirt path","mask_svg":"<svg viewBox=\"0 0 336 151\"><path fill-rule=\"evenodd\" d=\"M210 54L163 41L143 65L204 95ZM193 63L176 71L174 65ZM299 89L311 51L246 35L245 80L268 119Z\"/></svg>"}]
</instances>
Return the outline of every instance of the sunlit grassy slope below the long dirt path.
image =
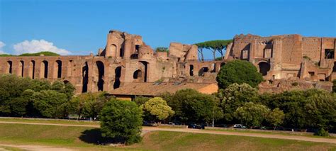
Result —
<instances>
[{"instance_id":1,"label":"sunlit grassy slope below the long dirt path","mask_svg":"<svg viewBox=\"0 0 336 151\"><path fill-rule=\"evenodd\" d=\"M97 138L96 128L0 124L0 143L57 145L80 150L269 150L270 147L272 150L336 150L336 145L328 143L164 131L147 133L142 142L128 147L94 145Z\"/></svg>"}]
</instances>

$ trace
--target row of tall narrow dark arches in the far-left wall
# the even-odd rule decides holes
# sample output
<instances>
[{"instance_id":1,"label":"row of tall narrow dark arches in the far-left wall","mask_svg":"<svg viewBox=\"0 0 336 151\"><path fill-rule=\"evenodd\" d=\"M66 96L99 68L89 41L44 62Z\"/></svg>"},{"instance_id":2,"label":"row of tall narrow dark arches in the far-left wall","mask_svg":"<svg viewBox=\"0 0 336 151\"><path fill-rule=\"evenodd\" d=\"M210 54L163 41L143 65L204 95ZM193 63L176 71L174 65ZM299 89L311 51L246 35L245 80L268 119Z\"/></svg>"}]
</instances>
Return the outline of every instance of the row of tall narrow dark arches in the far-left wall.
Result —
<instances>
[{"instance_id":1,"label":"row of tall narrow dark arches in the far-left wall","mask_svg":"<svg viewBox=\"0 0 336 151\"><path fill-rule=\"evenodd\" d=\"M72 60L69 61L70 63L72 62ZM26 73L25 73L25 66L26 63L23 60L20 60L18 62L18 67L17 67L17 72L16 74L18 76L21 77L25 77ZM71 67L71 65L70 65ZM45 78L47 79L49 77L48 74L48 70L49 69L49 62L47 62L47 60L43 60L40 63L40 78ZM61 60L56 60L55 61L55 67L53 68L54 70L54 78L62 78L62 61ZM31 79L35 79L35 70L36 70L36 62L35 60L31 60L30 62L28 62L28 77L30 77ZM70 76L71 76L71 69L69 69L70 72ZM6 74L13 74L13 61L9 60L7 61L7 65L6 65Z\"/></svg>"}]
</instances>

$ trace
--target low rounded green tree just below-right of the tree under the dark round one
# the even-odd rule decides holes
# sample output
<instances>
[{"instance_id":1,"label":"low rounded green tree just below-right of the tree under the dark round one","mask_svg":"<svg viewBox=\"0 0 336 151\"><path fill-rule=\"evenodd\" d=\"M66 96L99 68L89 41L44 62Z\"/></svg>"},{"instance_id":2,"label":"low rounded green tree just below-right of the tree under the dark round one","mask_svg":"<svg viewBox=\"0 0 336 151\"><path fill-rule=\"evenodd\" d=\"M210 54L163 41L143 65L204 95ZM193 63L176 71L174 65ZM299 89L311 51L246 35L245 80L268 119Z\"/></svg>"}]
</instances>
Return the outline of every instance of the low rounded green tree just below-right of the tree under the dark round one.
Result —
<instances>
[{"instance_id":1,"label":"low rounded green tree just below-right of the tree under the dark round one","mask_svg":"<svg viewBox=\"0 0 336 151\"><path fill-rule=\"evenodd\" d=\"M247 102L244 106L240 106L235 111L235 117L243 124L252 126L261 126L262 121L269 113L269 108L262 104L254 104L253 102Z\"/></svg>"}]
</instances>

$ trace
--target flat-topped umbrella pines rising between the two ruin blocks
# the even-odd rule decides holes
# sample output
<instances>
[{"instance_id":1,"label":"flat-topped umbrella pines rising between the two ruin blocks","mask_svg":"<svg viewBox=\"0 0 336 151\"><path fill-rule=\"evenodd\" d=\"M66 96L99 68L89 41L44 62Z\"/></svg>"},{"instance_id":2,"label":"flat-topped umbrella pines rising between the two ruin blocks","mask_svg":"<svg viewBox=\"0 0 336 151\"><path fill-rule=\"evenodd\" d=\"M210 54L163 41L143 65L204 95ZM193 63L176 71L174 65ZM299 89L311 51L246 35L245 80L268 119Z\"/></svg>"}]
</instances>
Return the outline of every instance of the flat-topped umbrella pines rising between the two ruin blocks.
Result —
<instances>
[{"instance_id":1,"label":"flat-topped umbrella pines rising between the two ruin blocks","mask_svg":"<svg viewBox=\"0 0 336 151\"><path fill-rule=\"evenodd\" d=\"M196 43L195 45L198 46L198 53L201 54L201 60L204 61L203 49L211 50L213 53L213 60L216 60L215 53L219 52L220 57L223 57L225 55L226 47L230 43L233 43L233 40L211 40L202 43Z\"/></svg>"}]
</instances>

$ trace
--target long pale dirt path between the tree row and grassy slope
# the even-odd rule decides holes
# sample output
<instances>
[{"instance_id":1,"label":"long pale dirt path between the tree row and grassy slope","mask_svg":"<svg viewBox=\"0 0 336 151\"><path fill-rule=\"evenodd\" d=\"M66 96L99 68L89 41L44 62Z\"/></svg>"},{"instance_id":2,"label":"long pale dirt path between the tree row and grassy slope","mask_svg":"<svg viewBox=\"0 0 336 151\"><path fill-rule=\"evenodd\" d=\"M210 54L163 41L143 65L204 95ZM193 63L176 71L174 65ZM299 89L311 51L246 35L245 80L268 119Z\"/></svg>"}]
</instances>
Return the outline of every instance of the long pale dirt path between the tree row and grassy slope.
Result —
<instances>
[{"instance_id":1,"label":"long pale dirt path between the tree row and grassy slope","mask_svg":"<svg viewBox=\"0 0 336 151\"><path fill-rule=\"evenodd\" d=\"M25 122L5 122L0 121L0 123L13 123L13 124L30 124L30 125L61 125L61 126L77 126L77 127L90 127L99 128L99 125L75 125L75 124L54 124L54 123L25 123ZM296 135L276 135L276 134L261 134L261 133L241 133L241 132L227 132L227 131L215 131L215 130L198 130L189 128L157 128L157 127L142 127L145 131L172 131L172 132L185 132L185 133L206 133L206 134L217 134L217 135L239 135L239 136L249 136L258 138L279 138L285 140L302 140L309 142L329 142L336 144L336 139L329 138L311 138L306 136L296 136Z\"/></svg>"}]
</instances>

